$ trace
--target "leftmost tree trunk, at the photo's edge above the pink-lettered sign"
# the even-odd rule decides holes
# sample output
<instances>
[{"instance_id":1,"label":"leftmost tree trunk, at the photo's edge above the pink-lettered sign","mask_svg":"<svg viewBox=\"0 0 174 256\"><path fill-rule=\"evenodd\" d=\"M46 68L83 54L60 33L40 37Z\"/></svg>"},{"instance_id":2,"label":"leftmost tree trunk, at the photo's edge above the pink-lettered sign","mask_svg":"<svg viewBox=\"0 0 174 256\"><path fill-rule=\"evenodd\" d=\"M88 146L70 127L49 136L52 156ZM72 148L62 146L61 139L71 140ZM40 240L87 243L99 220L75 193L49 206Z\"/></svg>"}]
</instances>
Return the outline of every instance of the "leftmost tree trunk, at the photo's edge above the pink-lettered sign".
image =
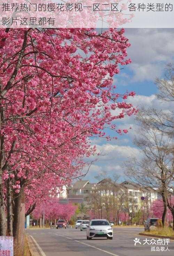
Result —
<instances>
[{"instance_id":1,"label":"leftmost tree trunk, at the photo's edge above the pink-lettered sign","mask_svg":"<svg viewBox=\"0 0 174 256\"><path fill-rule=\"evenodd\" d=\"M0 173L0 236L6 236L6 218L4 206L5 204L2 185L2 173Z\"/></svg>"}]
</instances>

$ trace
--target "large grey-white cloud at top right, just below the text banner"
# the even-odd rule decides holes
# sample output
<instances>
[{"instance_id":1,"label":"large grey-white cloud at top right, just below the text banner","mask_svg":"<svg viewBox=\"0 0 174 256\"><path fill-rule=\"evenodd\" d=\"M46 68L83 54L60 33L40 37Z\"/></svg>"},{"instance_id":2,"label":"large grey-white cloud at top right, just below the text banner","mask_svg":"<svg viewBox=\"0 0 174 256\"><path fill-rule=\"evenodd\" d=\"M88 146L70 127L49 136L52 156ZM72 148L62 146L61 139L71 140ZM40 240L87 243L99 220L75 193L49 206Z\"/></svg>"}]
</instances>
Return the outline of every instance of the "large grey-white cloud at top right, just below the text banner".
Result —
<instances>
[{"instance_id":1,"label":"large grey-white cloud at top right, just below the text banner","mask_svg":"<svg viewBox=\"0 0 174 256\"><path fill-rule=\"evenodd\" d=\"M132 82L154 80L174 57L174 29L126 29Z\"/></svg>"}]
</instances>

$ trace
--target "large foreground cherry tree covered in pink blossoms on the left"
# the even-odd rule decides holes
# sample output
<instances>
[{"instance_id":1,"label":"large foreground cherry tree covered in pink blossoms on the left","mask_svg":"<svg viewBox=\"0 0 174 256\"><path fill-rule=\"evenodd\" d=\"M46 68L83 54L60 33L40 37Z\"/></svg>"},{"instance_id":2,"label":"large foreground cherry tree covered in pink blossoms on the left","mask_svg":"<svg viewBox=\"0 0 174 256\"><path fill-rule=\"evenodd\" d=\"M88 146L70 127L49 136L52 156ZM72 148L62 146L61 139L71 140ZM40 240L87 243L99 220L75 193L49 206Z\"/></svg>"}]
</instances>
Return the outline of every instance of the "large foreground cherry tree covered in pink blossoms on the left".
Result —
<instances>
[{"instance_id":1,"label":"large foreground cherry tree covered in pink blossoms on the left","mask_svg":"<svg viewBox=\"0 0 174 256\"><path fill-rule=\"evenodd\" d=\"M114 121L136 114L126 102L135 93L118 94L113 75L130 63L129 46L124 29L0 29L0 235L5 185L17 239L24 191L70 182L95 152L88 138L109 139L106 127L128 132Z\"/></svg>"}]
</instances>

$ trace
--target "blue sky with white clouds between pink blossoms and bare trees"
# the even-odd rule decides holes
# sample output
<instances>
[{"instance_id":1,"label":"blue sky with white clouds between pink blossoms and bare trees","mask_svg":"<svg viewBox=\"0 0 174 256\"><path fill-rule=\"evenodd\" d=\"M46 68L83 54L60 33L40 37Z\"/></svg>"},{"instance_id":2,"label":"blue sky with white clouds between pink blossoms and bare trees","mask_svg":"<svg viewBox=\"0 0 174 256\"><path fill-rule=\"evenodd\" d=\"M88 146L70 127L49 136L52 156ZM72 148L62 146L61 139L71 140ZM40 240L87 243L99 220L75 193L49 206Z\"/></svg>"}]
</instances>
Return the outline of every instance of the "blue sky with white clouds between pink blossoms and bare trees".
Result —
<instances>
[{"instance_id":1,"label":"blue sky with white clouds between pink blossoms and bare trees","mask_svg":"<svg viewBox=\"0 0 174 256\"><path fill-rule=\"evenodd\" d=\"M117 91L135 91L136 96L128 99L135 106L168 109L169 104L161 103L155 94L157 87L154 83L157 77L163 77L165 65L172 63L174 58L174 29L126 29L131 46L128 49L128 58L132 63L126 65L120 74L114 76ZM106 141L103 138L94 138L91 143L97 146L102 155L90 167L84 180L96 182L95 176L105 171L109 176L120 175L120 181L125 180L124 161L131 156L140 157L141 153L133 144L137 125L134 116L127 117L118 123L121 129L132 127L128 134L118 136L118 140ZM94 160L90 158L89 160ZM84 170L84 173L86 170Z\"/></svg>"}]
</instances>

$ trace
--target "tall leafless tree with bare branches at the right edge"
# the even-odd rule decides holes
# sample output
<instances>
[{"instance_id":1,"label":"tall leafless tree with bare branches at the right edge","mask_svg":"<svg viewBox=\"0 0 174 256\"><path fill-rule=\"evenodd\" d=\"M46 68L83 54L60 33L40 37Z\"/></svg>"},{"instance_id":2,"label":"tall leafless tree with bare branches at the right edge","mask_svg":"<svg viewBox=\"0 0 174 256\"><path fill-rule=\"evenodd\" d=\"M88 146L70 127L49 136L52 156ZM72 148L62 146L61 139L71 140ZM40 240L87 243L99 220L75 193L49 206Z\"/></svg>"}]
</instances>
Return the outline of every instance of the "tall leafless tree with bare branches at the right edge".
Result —
<instances>
[{"instance_id":1,"label":"tall leafless tree with bare branches at the right edge","mask_svg":"<svg viewBox=\"0 0 174 256\"><path fill-rule=\"evenodd\" d=\"M174 104L174 68L168 65L165 78L157 79L159 101ZM162 102L162 103L163 103ZM141 185L151 186L163 198L164 226L167 207L174 218L174 207L169 199L174 183L174 118L173 107L167 111L142 107L136 120L140 126L134 143L141 149L143 158L136 158L126 163L127 175ZM174 223L173 223L174 228Z\"/></svg>"}]
</instances>

